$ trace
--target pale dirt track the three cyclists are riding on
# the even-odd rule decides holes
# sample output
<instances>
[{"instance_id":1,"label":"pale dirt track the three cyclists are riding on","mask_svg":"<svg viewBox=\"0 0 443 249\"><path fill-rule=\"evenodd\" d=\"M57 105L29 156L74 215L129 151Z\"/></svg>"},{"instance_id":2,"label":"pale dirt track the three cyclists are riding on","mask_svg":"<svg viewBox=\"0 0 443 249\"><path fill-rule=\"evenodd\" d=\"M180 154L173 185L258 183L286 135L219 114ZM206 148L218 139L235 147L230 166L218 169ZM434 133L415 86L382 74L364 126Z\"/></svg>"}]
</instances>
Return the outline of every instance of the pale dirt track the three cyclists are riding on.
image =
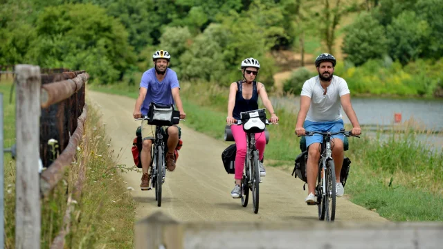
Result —
<instances>
[{"instance_id":1,"label":"pale dirt track the three cyclists are riding on","mask_svg":"<svg viewBox=\"0 0 443 249\"><path fill-rule=\"evenodd\" d=\"M120 152L118 164L134 165L131 147L139 121L132 118L135 100L118 95L88 91L89 102L98 107L106 123L111 147ZM186 110L185 110L186 111ZM224 142L198 133L181 124L183 147L175 172L167 172L163 184L163 203L156 206L154 191L141 191L141 174L131 172L123 177L134 187L137 202L136 219L162 210L178 221L318 221L316 206L304 202L307 192L302 181L282 170L266 167L260 185L260 210L252 211L252 203L243 208L232 199L233 175L224 171L221 151ZM224 125L220 124L220 129ZM116 157L116 156L114 156ZM250 196L251 197L251 196ZM379 214L365 210L346 199L337 199L336 221L385 221Z\"/></svg>"}]
</instances>

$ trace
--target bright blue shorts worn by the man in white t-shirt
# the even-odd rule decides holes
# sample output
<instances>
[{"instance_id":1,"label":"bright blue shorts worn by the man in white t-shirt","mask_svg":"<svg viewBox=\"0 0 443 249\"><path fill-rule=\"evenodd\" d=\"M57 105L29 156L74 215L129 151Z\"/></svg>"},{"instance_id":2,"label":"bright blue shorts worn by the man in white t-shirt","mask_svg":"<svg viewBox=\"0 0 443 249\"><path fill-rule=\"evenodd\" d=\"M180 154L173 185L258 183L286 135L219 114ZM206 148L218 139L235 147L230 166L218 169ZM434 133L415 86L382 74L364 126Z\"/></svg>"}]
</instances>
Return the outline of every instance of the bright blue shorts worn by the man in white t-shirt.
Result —
<instances>
[{"instance_id":1,"label":"bright blue shorts worn by the man in white t-shirt","mask_svg":"<svg viewBox=\"0 0 443 249\"><path fill-rule=\"evenodd\" d=\"M343 120L337 120L337 121L327 121L327 122L312 122L309 120L305 120L305 124L303 125L306 131L320 131L320 132L327 132L327 131L340 131L344 128ZM319 134L315 134L314 136L305 136L306 138L306 147L309 147L309 145L312 145L314 142L321 143L323 141L323 136ZM342 141L345 140L345 135L338 134L332 136L332 138L340 138Z\"/></svg>"}]
</instances>

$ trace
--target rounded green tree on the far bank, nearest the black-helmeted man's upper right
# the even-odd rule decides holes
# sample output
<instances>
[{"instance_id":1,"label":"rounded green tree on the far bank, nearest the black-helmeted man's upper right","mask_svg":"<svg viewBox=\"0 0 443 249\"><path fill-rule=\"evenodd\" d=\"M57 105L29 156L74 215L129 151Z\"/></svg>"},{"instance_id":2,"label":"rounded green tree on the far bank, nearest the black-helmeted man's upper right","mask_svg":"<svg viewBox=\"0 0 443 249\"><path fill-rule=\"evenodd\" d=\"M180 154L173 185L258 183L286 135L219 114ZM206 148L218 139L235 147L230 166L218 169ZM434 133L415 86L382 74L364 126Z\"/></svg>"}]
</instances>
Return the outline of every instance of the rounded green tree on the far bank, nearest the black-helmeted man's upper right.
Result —
<instances>
[{"instance_id":1,"label":"rounded green tree on the far bank, nearest the black-helmeted man's upper right","mask_svg":"<svg viewBox=\"0 0 443 249\"><path fill-rule=\"evenodd\" d=\"M343 53L359 66L368 59L381 59L388 51L385 28L370 13L363 12L345 29Z\"/></svg>"}]
</instances>

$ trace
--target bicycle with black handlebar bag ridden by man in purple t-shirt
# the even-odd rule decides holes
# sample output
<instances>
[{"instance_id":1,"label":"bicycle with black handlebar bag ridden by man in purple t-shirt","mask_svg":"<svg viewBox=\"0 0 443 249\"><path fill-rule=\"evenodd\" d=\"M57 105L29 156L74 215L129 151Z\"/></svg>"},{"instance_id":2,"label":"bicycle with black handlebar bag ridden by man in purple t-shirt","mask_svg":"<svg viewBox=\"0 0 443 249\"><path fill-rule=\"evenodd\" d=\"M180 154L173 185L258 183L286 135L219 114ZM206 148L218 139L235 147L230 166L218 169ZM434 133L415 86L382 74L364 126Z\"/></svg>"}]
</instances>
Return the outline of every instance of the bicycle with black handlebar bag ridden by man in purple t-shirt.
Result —
<instances>
[{"instance_id":1,"label":"bicycle with black handlebar bag ridden by man in purple t-shirt","mask_svg":"<svg viewBox=\"0 0 443 249\"><path fill-rule=\"evenodd\" d=\"M170 110L171 107L162 107L159 105L159 107L152 105L150 108L154 109L153 114L143 116L143 118L136 118L136 120L148 120L148 124L150 122L152 125L155 125L155 136L154 136L154 145L151 149L151 163L150 163L150 176L151 176L151 182L150 187L148 190L152 190L152 188L155 189L155 200L157 201L157 206L161 207L161 187L163 183L165 183L165 177L166 177L166 163L165 163L165 129L163 129L163 126L166 124L166 122L171 122L172 124L179 124L179 120L185 121L179 118L177 116L177 111L174 111L172 108L172 111ZM168 109L166 109L168 108ZM167 118L162 120L156 120L156 115L159 114L159 116L164 116L164 113L162 112L171 112L170 116L167 116ZM175 115L174 115L175 113ZM179 114L178 114L179 115ZM164 118L164 117L161 117ZM175 120L175 121L170 121ZM166 121L166 122L165 122Z\"/></svg>"}]
</instances>

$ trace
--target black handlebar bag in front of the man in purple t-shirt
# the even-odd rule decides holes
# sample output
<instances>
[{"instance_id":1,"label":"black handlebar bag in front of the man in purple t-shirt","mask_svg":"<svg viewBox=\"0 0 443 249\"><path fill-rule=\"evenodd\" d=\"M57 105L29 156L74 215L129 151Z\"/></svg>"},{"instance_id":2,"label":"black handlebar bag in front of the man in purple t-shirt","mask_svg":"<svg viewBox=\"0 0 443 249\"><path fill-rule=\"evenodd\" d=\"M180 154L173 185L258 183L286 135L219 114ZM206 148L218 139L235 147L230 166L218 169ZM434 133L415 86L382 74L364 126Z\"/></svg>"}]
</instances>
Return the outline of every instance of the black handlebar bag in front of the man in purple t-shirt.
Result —
<instances>
[{"instance_id":1,"label":"black handlebar bag in front of the man in purple t-shirt","mask_svg":"<svg viewBox=\"0 0 443 249\"><path fill-rule=\"evenodd\" d=\"M150 125L171 126L172 124L178 124L180 121L180 112L175 111L172 104L151 103L147 116L149 117L147 124Z\"/></svg>"}]
</instances>

